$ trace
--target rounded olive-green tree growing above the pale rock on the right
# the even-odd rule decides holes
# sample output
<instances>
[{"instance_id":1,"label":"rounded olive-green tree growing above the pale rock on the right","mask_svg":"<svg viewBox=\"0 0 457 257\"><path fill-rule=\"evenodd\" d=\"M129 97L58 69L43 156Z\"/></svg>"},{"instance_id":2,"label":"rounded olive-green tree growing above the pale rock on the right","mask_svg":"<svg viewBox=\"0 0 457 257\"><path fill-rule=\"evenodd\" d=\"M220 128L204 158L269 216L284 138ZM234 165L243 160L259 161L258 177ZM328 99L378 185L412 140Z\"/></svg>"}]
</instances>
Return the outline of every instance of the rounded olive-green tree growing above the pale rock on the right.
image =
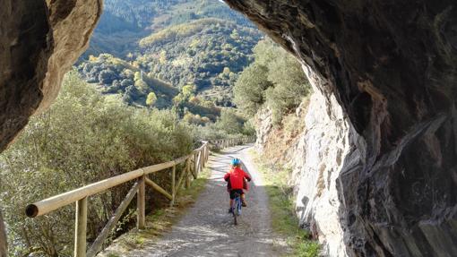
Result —
<instances>
[{"instance_id":1,"label":"rounded olive-green tree growing above the pale rock on the right","mask_svg":"<svg viewBox=\"0 0 457 257\"><path fill-rule=\"evenodd\" d=\"M266 106L272 109L275 124L280 124L309 92L300 64L271 39L254 47L254 63L241 73L234 88L235 103L247 116Z\"/></svg>"}]
</instances>

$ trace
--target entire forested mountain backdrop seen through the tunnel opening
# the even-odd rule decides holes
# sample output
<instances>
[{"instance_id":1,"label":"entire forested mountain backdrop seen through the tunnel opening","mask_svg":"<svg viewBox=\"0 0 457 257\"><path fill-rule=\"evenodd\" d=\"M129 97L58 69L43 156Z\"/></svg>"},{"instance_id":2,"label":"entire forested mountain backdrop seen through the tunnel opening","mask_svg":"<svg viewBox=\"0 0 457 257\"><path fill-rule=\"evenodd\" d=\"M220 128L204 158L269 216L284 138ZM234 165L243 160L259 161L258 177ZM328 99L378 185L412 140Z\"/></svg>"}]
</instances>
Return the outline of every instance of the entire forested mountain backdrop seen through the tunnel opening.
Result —
<instances>
[{"instance_id":1,"label":"entire forested mountain backdrop seen through the tunnel opening","mask_svg":"<svg viewBox=\"0 0 457 257\"><path fill-rule=\"evenodd\" d=\"M104 8L78 64L82 78L130 105L176 107L182 116L215 120L218 107L231 107L238 74L263 38L216 0L107 0Z\"/></svg>"}]
</instances>

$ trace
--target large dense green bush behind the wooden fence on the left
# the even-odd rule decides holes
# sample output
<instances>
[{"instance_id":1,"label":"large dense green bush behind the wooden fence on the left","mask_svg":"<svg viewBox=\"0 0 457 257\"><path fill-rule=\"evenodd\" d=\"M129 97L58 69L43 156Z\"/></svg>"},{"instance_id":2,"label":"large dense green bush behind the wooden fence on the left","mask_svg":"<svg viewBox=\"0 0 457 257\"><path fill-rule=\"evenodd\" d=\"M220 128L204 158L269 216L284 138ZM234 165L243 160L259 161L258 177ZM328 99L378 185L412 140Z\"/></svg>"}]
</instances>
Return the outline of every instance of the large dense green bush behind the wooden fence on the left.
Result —
<instances>
[{"instance_id":1,"label":"large dense green bush behind the wooden fence on the left","mask_svg":"<svg viewBox=\"0 0 457 257\"><path fill-rule=\"evenodd\" d=\"M184 156L192 146L189 129L171 111L127 107L100 95L75 72L68 74L53 106L32 117L0 156L0 201L11 255L72 254L68 245L73 245L73 206L31 219L23 212L30 202ZM154 176L158 183L169 181L165 173ZM98 235L128 190L125 184L91 197L89 240Z\"/></svg>"}]
</instances>

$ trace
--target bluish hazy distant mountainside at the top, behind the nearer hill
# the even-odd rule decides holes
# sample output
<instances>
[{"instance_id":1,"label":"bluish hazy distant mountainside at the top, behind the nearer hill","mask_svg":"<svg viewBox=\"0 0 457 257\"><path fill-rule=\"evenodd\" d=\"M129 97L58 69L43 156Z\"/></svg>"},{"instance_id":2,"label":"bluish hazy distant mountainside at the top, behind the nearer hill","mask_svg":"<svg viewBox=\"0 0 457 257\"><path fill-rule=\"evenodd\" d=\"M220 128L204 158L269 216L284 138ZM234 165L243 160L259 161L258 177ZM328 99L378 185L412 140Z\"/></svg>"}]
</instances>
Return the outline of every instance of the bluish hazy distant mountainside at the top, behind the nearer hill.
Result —
<instances>
[{"instance_id":1,"label":"bluish hazy distant mountainside at the top, behind the nearer hill","mask_svg":"<svg viewBox=\"0 0 457 257\"><path fill-rule=\"evenodd\" d=\"M137 49L137 41L169 26L204 18L235 21L254 28L251 21L227 4L214 0L106 0L99 24L84 54L109 53L124 57ZM136 50L135 50L136 51Z\"/></svg>"}]
</instances>

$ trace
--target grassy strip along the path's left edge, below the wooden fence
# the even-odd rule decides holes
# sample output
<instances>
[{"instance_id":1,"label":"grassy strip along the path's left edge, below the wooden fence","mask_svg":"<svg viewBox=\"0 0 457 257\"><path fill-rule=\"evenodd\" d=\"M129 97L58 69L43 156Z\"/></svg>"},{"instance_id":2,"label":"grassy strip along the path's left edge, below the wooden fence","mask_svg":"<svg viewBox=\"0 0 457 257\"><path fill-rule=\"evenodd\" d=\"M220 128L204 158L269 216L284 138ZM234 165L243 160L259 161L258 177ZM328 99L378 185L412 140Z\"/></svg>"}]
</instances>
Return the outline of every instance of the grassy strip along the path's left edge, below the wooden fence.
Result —
<instances>
[{"instance_id":1,"label":"grassy strip along the path's left edge, below the wooden fence","mask_svg":"<svg viewBox=\"0 0 457 257\"><path fill-rule=\"evenodd\" d=\"M211 170L204 168L199 177L192 181L189 188L181 188L177 193L177 205L173 207L158 209L146 217L145 229L136 228L119 236L103 253L97 256L116 257L125 256L133 249L142 249L145 244L156 241L175 224L183 215L185 210L191 206L202 193ZM184 182L183 182L184 183Z\"/></svg>"}]
</instances>

